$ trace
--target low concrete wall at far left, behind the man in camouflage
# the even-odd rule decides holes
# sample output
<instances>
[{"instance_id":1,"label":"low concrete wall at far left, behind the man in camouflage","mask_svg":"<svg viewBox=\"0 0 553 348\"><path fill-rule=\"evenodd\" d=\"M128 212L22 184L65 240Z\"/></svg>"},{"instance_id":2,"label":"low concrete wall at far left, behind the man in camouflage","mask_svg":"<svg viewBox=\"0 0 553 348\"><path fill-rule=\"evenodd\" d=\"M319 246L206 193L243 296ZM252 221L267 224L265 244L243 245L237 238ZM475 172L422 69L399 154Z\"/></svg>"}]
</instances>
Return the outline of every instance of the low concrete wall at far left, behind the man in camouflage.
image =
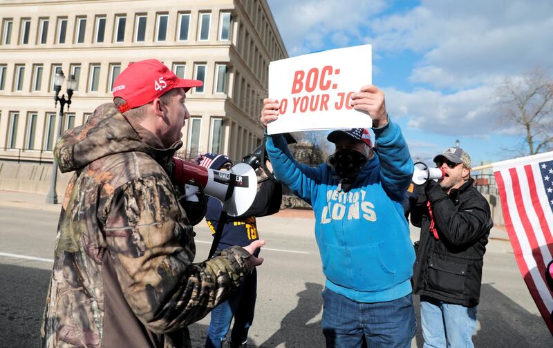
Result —
<instances>
[{"instance_id":1,"label":"low concrete wall at far left, behind the man in camouflage","mask_svg":"<svg viewBox=\"0 0 553 348\"><path fill-rule=\"evenodd\" d=\"M41 193L50 190L51 164L0 162L0 191ZM56 191L63 197L72 173L57 172Z\"/></svg>"}]
</instances>

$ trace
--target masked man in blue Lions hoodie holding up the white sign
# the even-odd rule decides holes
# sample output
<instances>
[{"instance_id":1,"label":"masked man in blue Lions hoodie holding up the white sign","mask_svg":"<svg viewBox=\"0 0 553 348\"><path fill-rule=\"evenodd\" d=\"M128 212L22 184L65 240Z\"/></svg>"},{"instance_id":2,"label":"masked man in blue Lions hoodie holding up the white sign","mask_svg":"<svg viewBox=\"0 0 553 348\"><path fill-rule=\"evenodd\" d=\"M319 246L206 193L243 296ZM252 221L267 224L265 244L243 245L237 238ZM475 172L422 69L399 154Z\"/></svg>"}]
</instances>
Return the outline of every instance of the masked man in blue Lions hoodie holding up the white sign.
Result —
<instances>
[{"instance_id":1,"label":"masked man in blue Lions hoodie holding up the white sign","mask_svg":"<svg viewBox=\"0 0 553 348\"><path fill-rule=\"evenodd\" d=\"M263 104L267 126L279 118L280 104ZM366 128L351 128L328 135L336 151L318 167L294 160L281 134L268 136L267 153L275 177L315 211L327 347L362 347L364 340L369 347L410 347L417 327L410 281L415 252L402 201L413 162L379 88L362 87L348 106L372 119L377 151Z\"/></svg>"}]
</instances>

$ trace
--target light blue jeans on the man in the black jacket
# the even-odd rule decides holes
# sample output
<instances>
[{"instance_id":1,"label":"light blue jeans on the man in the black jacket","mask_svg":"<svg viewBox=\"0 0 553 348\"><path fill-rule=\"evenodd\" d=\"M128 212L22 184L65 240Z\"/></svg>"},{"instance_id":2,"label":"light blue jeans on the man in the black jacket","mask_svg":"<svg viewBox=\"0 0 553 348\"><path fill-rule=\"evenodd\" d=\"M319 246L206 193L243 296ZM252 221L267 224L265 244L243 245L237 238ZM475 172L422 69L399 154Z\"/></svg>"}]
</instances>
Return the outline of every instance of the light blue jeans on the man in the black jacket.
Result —
<instances>
[{"instance_id":1,"label":"light blue jeans on the man in the black jacket","mask_svg":"<svg viewBox=\"0 0 553 348\"><path fill-rule=\"evenodd\" d=\"M476 307L451 305L421 296L420 321L424 348L474 347Z\"/></svg>"}]
</instances>

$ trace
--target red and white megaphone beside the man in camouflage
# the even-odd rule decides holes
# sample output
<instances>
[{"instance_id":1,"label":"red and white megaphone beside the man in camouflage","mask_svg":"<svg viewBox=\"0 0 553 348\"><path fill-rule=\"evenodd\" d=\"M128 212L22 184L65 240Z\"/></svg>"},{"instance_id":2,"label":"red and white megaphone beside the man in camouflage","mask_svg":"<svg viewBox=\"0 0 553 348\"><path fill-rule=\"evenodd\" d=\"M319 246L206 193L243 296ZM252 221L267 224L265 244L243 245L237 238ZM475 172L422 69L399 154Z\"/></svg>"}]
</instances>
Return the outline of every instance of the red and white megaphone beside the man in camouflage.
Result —
<instances>
[{"instance_id":1,"label":"red and white megaphone beside the man in camouflage","mask_svg":"<svg viewBox=\"0 0 553 348\"><path fill-rule=\"evenodd\" d=\"M257 193L257 175L251 166L238 163L230 171L215 171L176 157L171 162L174 163L171 177L174 184L201 186L206 195L223 203L223 210L230 216L242 215L252 206Z\"/></svg>"}]
</instances>

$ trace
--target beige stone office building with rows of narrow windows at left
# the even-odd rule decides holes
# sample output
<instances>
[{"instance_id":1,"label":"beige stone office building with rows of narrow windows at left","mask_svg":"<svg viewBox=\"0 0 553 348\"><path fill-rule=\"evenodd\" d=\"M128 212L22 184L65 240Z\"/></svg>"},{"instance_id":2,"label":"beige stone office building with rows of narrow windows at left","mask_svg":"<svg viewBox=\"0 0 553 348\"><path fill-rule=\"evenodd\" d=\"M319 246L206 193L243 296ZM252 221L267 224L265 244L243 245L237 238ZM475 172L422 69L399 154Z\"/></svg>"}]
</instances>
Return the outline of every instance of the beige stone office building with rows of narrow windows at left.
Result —
<instances>
[{"instance_id":1,"label":"beige stone office building with rows of narrow windows at left","mask_svg":"<svg viewBox=\"0 0 553 348\"><path fill-rule=\"evenodd\" d=\"M266 0L1 1L0 160L51 162L57 122L62 131L85 122L111 101L120 71L149 58L205 82L187 95L185 155L240 159L261 141L268 64L285 57ZM63 119L59 70L77 79Z\"/></svg>"}]
</instances>

